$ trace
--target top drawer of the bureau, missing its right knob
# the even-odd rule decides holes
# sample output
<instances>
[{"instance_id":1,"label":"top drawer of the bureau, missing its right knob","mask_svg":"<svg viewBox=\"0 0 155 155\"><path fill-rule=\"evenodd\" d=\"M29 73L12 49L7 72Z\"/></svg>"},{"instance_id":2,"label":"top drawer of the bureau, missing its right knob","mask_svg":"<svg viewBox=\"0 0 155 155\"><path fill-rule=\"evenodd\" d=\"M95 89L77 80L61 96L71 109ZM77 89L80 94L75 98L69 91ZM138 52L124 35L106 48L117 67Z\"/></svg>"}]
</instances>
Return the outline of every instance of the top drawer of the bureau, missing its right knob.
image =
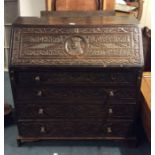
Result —
<instances>
[{"instance_id":1,"label":"top drawer of the bureau, missing its right knob","mask_svg":"<svg viewBox=\"0 0 155 155\"><path fill-rule=\"evenodd\" d=\"M103 85L131 85L136 82L132 72L107 71L51 71L51 72L19 72L17 83L20 85L44 84L103 84Z\"/></svg>"}]
</instances>

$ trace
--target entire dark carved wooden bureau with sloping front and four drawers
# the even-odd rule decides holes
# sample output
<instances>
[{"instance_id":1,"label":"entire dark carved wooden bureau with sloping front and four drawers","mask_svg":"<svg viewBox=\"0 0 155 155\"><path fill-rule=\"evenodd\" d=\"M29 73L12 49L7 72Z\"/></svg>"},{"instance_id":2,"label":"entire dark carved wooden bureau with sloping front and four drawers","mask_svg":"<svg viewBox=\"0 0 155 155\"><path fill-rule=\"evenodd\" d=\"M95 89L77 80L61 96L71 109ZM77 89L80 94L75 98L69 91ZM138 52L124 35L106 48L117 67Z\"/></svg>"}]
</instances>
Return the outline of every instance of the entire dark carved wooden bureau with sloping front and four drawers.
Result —
<instances>
[{"instance_id":1,"label":"entire dark carved wooden bureau with sloping front and four drawers","mask_svg":"<svg viewBox=\"0 0 155 155\"><path fill-rule=\"evenodd\" d=\"M133 17L19 17L9 74L27 140L136 140L143 66Z\"/></svg>"}]
</instances>

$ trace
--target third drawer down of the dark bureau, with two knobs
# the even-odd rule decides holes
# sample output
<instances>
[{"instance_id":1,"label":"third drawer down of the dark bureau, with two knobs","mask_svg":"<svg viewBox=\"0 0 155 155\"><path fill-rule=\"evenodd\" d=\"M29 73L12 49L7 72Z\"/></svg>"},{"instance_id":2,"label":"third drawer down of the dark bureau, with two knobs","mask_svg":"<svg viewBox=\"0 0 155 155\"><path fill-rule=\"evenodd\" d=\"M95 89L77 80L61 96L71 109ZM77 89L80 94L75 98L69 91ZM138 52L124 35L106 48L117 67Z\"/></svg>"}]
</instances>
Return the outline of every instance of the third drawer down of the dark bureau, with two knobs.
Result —
<instances>
[{"instance_id":1,"label":"third drawer down of the dark bureau, with two knobs","mask_svg":"<svg viewBox=\"0 0 155 155\"><path fill-rule=\"evenodd\" d=\"M19 119L47 118L133 118L136 105L109 104L50 104L50 105L17 105L16 114Z\"/></svg>"}]
</instances>

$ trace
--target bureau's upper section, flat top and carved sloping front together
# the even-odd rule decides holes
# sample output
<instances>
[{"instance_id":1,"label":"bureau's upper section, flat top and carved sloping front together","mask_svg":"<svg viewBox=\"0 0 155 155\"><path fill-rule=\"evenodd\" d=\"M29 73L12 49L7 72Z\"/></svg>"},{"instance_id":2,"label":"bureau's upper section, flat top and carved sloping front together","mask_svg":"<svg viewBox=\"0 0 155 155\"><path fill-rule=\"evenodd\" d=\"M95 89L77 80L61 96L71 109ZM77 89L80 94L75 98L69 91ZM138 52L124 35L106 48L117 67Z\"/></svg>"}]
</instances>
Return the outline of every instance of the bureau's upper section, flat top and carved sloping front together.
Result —
<instances>
[{"instance_id":1,"label":"bureau's upper section, flat top and carved sloping front together","mask_svg":"<svg viewBox=\"0 0 155 155\"><path fill-rule=\"evenodd\" d=\"M19 17L10 65L140 67L141 30L131 17Z\"/></svg>"}]
</instances>

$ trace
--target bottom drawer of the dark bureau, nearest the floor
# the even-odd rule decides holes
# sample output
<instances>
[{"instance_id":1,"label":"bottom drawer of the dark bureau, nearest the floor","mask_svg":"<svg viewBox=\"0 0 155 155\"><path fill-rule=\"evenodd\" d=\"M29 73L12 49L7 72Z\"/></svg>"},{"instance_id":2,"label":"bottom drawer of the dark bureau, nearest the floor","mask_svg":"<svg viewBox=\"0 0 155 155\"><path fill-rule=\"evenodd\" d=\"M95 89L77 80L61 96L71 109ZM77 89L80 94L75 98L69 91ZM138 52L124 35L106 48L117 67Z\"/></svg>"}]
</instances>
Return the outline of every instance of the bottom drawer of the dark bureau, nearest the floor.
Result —
<instances>
[{"instance_id":1,"label":"bottom drawer of the dark bureau, nearest the floor","mask_svg":"<svg viewBox=\"0 0 155 155\"><path fill-rule=\"evenodd\" d=\"M133 132L133 121L103 120L51 120L20 121L21 136L32 137L107 137L129 136Z\"/></svg>"}]
</instances>

